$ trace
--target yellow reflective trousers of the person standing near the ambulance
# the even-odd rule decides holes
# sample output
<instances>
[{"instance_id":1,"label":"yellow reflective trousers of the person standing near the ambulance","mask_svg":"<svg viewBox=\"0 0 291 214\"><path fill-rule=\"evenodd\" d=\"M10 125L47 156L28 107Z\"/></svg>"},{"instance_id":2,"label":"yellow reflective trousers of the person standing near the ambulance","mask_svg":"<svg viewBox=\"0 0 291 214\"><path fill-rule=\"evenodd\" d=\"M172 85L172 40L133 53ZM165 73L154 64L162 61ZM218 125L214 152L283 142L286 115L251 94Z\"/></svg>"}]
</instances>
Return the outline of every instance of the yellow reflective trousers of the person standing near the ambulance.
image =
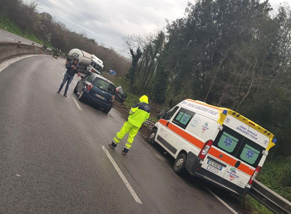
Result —
<instances>
[{"instance_id":1,"label":"yellow reflective trousers of the person standing near the ambulance","mask_svg":"<svg viewBox=\"0 0 291 214\"><path fill-rule=\"evenodd\" d=\"M127 132L128 133L128 139L127 139L127 143L125 144L124 148L126 149L130 149L131 144L133 142L134 136L136 136L137 131L139 131L139 127L136 127L132 124L130 124L128 121L126 121L123 124L123 127L120 129L120 131L116 134L116 137L113 139L115 144L118 144L121 139L123 138L123 136L125 136L125 134Z\"/></svg>"}]
</instances>

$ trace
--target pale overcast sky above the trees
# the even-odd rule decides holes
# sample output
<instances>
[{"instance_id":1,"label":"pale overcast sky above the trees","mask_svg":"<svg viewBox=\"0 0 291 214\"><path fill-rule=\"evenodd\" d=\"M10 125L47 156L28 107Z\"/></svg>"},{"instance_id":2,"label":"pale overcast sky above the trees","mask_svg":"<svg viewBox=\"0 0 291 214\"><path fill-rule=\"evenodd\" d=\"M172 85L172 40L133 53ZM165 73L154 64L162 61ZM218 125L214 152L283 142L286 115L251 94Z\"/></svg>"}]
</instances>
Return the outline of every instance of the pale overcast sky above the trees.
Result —
<instances>
[{"instance_id":1,"label":"pale overcast sky above the trees","mask_svg":"<svg viewBox=\"0 0 291 214\"><path fill-rule=\"evenodd\" d=\"M290 0L285 0L290 1ZM184 16L188 0L39 0L47 12L72 31L86 31L105 47L122 48L122 37L149 33ZM193 0L191 2L194 2ZM276 8L282 0L269 0Z\"/></svg>"}]
</instances>

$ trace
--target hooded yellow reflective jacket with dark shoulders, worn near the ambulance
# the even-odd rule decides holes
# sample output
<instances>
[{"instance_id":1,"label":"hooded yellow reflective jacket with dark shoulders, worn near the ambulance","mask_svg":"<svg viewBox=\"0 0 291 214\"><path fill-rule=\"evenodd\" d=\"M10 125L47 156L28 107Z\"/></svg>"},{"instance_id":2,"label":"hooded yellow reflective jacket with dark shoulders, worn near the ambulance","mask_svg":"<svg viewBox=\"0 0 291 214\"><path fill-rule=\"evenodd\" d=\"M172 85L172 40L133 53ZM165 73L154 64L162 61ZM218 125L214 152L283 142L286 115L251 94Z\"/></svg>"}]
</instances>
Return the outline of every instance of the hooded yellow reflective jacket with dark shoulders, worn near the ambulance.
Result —
<instances>
[{"instance_id":1,"label":"hooded yellow reflective jacket with dark shoulders, worn near the ambulance","mask_svg":"<svg viewBox=\"0 0 291 214\"><path fill-rule=\"evenodd\" d=\"M141 124L150 116L148 97L143 95L139 98L139 101L139 103L130 109L130 115L128 117L128 122L138 128L140 128Z\"/></svg>"}]
</instances>

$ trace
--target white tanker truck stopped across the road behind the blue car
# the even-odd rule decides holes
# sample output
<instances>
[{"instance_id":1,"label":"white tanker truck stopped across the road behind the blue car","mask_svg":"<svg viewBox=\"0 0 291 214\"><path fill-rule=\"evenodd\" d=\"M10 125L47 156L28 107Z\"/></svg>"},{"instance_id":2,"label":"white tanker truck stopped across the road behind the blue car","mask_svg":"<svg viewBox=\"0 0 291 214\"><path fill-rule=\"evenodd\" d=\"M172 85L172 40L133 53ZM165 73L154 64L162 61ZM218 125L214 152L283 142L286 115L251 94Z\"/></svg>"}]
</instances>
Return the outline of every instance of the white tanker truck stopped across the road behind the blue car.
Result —
<instances>
[{"instance_id":1,"label":"white tanker truck stopped across the road behind the blue car","mask_svg":"<svg viewBox=\"0 0 291 214\"><path fill-rule=\"evenodd\" d=\"M85 52L84 50L73 48L70 50L68 54L67 63L69 63L71 60L74 60L74 57L79 58L79 65L80 65L80 72L83 73L97 73L100 74L103 71L103 62L101 59L96 57L93 54L89 54Z\"/></svg>"}]
</instances>

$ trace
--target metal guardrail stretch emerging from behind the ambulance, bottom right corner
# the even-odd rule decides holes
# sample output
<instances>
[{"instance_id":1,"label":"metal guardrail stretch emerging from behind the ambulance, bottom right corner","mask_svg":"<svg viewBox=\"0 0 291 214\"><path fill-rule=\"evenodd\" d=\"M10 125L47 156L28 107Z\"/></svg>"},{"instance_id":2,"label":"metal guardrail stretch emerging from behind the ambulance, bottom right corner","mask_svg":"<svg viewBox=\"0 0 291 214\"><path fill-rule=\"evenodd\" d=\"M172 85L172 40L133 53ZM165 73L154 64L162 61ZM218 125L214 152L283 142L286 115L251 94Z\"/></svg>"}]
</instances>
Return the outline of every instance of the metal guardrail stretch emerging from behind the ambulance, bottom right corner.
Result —
<instances>
[{"instance_id":1,"label":"metal guardrail stretch emerging from behind the ambulance, bottom right corner","mask_svg":"<svg viewBox=\"0 0 291 214\"><path fill-rule=\"evenodd\" d=\"M291 203L257 180L254 180L249 195L273 213L291 214Z\"/></svg>"}]
</instances>

